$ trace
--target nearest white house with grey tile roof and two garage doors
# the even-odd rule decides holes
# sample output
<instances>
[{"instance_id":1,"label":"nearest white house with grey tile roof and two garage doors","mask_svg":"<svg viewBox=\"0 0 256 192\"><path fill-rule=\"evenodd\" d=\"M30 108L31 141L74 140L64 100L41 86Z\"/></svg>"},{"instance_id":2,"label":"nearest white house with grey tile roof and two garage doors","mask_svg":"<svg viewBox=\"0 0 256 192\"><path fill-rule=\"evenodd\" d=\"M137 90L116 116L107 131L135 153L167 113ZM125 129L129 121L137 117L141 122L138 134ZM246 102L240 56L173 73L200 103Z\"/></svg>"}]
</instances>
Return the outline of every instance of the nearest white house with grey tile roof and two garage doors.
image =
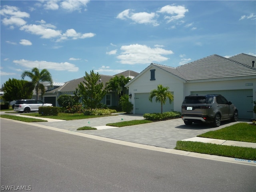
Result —
<instances>
[{"instance_id":1,"label":"nearest white house with grey tile roof and two garage doors","mask_svg":"<svg viewBox=\"0 0 256 192\"><path fill-rule=\"evenodd\" d=\"M238 54L230 58L211 55L176 68L150 64L126 84L134 114L160 112L160 103L151 103L150 91L159 84L168 86L174 95L167 99L163 111L181 111L184 97L190 94L222 94L238 108L239 118L255 118L253 103L256 100L255 56Z\"/></svg>"}]
</instances>

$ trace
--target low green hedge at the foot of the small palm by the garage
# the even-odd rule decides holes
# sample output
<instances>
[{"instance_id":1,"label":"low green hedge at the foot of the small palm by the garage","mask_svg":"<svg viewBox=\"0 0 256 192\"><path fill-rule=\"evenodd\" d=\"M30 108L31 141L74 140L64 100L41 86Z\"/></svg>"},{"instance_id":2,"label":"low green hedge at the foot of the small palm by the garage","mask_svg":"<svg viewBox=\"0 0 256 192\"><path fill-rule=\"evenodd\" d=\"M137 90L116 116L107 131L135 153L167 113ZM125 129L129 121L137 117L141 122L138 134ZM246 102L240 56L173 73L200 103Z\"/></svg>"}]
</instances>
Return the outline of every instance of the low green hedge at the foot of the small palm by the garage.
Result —
<instances>
[{"instance_id":1,"label":"low green hedge at the foot of the small palm by the garage","mask_svg":"<svg viewBox=\"0 0 256 192\"><path fill-rule=\"evenodd\" d=\"M167 120L173 118L180 118L181 113L176 111L164 112L164 113L145 113L143 117L151 121Z\"/></svg>"}]
</instances>

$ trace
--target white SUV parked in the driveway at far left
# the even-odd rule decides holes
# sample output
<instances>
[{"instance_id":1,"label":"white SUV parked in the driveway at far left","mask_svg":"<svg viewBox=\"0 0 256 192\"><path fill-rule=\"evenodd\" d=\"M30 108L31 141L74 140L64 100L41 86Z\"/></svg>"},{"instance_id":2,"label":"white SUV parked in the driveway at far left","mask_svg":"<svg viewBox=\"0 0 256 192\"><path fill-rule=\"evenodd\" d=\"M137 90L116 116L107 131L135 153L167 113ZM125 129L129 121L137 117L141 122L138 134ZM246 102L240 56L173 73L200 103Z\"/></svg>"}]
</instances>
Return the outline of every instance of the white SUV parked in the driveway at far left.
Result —
<instances>
[{"instance_id":1,"label":"white SUV parked in the driveway at far left","mask_svg":"<svg viewBox=\"0 0 256 192\"><path fill-rule=\"evenodd\" d=\"M40 100L22 99L22 100L18 100L15 102L14 111L28 113L30 111L38 111L38 108L42 107L42 106L44 106L44 107L51 106L52 107L52 104L44 103Z\"/></svg>"}]
</instances>

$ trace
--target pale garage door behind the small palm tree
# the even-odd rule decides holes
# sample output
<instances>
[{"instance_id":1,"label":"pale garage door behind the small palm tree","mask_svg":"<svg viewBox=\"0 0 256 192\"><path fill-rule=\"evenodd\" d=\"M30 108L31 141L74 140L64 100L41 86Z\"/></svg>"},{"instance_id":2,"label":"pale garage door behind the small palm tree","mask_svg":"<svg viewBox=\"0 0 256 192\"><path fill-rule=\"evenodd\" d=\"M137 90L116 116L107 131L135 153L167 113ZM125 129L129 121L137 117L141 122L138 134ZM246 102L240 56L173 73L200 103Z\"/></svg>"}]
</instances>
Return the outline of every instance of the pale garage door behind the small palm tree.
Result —
<instances>
[{"instance_id":1,"label":"pale garage door behind the small palm tree","mask_svg":"<svg viewBox=\"0 0 256 192\"><path fill-rule=\"evenodd\" d=\"M172 93L173 94L173 93ZM144 114L144 113L160 113L161 112L161 103L155 102L156 98L152 99L152 102L148 100L149 93L136 93L135 94L135 113ZM163 112L173 111L173 103L169 103L169 99L166 100L166 103L163 105Z\"/></svg>"}]
</instances>

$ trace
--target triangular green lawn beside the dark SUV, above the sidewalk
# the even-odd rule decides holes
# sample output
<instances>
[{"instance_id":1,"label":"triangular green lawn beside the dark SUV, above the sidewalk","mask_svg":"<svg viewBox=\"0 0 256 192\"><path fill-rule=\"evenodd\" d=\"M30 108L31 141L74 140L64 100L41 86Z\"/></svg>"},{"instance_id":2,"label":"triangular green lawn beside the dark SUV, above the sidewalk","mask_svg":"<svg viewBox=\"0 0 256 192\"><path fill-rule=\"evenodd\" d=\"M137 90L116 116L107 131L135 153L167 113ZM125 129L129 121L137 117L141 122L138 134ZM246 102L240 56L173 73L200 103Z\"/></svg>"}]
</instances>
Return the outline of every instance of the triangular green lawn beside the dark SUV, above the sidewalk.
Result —
<instances>
[{"instance_id":1,"label":"triangular green lawn beside the dark SUV, above the sidewalk","mask_svg":"<svg viewBox=\"0 0 256 192\"><path fill-rule=\"evenodd\" d=\"M248 123L237 123L200 134L198 137L256 143L256 126Z\"/></svg>"}]
</instances>

